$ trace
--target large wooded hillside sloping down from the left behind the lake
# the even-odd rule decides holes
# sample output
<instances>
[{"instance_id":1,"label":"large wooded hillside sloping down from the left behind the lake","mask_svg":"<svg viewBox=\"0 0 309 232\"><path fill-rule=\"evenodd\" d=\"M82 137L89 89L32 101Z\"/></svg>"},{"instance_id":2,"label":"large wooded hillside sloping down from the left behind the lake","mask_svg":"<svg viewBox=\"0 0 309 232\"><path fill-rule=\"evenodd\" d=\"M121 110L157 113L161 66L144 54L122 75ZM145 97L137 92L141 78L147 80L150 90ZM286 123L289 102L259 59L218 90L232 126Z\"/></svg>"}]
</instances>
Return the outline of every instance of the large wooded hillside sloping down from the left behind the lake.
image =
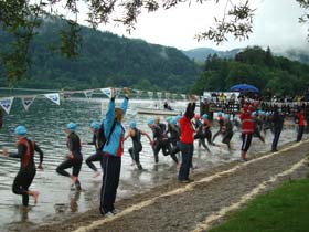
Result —
<instances>
[{"instance_id":1,"label":"large wooded hillside sloping down from the left behind the lake","mask_svg":"<svg viewBox=\"0 0 309 232\"><path fill-rule=\"evenodd\" d=\"M79 55L61 56L58 31L64 21L44 19L43 27L31 44L31 68L28 78L14 87L96 88L130 86L152 91L188 92L201 68L180 50L142 40L121 38L109 32L82 27ZM11 38L0 31L0 51ZM2 62L1 62L2 63ZM0 86L8 86L0 63Z\"/></svg>"}]
</instances>

